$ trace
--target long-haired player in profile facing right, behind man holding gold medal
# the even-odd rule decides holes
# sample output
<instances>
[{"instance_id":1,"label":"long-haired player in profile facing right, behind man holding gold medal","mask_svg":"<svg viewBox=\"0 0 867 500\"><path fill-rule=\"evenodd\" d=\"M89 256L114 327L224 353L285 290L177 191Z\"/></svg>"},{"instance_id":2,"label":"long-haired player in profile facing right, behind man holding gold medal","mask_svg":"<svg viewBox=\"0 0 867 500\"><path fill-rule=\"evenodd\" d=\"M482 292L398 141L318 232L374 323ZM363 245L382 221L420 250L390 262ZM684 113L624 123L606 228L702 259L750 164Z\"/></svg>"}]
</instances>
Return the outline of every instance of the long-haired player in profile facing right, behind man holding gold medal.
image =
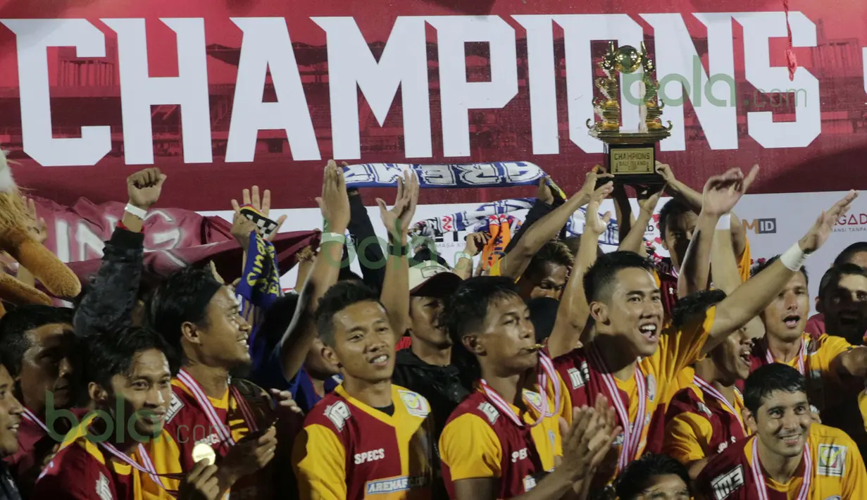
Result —
<instances>
[{"instance_id":1,"label":"long-haired player in profile facing right, behind man holding gold medal","mask_svg":"<svg viewBox=\"0 0 867 500\"><path fill-rule=\"evenodd\" d=\"M270 411L257 404L267 397L264 390L245 380L230 383L230 373L243 372L251 362L250 325L231 289L210 269L179 270L154 292L147 320L183 353L166 414L166 430L181 446L183 470L195 464L196 445L209 445L222 458L222 490L268 498L271 475L263 469L277 451L276 431L265 426L261 435L257 432L264 425L258 415ZM254 438L244 439L253 432Z\"/></svg>"}]
</instances>

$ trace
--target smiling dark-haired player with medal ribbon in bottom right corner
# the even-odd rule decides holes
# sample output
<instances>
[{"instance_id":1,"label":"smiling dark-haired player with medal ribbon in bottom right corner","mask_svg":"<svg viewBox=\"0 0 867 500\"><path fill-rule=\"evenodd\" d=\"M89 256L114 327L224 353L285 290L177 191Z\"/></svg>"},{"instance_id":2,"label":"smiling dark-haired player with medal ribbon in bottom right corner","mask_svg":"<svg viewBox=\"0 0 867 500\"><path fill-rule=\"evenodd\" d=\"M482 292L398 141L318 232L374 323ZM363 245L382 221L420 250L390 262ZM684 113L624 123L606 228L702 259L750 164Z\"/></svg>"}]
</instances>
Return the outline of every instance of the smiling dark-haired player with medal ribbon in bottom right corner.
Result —
<instances>
[{"instance_id":1,"label":"smiling dark-haired player with medal ribbon in bottom right corner","mask_svg":"<svg viewBox=\"0 0 867 500\"><path fill-rule=\"evenodd\" d=\"M867 498L867 472L845 432L812 421L806 380L773 363L746 379L744 417L754 435L708 462L696 484L705 498Z\"/></svg>"}]
</instances>

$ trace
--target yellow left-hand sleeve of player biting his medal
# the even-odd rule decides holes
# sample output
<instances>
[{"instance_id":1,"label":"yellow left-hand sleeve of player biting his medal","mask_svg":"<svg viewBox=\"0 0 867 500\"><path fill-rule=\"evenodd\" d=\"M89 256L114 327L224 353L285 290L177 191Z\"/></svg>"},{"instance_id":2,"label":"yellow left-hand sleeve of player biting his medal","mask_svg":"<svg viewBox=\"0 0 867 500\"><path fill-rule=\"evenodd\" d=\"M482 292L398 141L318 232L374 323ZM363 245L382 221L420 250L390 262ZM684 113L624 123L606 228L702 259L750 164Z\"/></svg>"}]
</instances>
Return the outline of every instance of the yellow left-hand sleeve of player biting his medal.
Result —
<instances>
[{"instance_id":1,"label":"yellow left-hand sleeve of player biting his medal","mask_svg":"<svg viewBox=\"0 0 867 500\"><path fill-rule=\"evenodd\" d=\"M440 458L452 481L476 477L500 477L503 449L499 438L478 415L465 413L453 419L440 436Z\"/></svg>"}]
</instances>

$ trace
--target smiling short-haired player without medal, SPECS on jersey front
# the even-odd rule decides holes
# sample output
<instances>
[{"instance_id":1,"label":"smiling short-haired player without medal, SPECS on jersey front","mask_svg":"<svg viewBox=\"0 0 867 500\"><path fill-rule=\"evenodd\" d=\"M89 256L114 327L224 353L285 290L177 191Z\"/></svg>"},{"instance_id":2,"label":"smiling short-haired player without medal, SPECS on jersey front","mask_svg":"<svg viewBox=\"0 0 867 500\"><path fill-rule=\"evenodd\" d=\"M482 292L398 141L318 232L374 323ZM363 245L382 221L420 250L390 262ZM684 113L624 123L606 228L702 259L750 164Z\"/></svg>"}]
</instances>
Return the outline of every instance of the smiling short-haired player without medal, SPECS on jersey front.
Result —
<instances>
[{"instance_id":1,"label":"smiling short-haired player without medal, SPECS on jersey front","mask_svg":"<svg viewBox=\"0 0 867 500\"><path fill-rule=\"evenodd\" d=\"M391 383L395 336L377 295L337 283L319 302L316 328L343 383L308 413L296 440L301 498L430 498L431 408Z\"/></svg>"}]
</instances>

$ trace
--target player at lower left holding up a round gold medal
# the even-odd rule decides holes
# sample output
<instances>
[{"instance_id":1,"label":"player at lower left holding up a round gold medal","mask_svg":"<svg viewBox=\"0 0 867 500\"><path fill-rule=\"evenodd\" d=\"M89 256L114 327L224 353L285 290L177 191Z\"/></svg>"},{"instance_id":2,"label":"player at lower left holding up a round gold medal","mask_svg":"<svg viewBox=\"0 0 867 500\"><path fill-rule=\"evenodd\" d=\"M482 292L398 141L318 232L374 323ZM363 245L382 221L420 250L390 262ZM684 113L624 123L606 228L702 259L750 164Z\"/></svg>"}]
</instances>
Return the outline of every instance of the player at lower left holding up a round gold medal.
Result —
<instances>
[{"instance_id":1,"label":"player at lower left holding up a round gold medal","mask_svg":"<svg viewBox=\"0 0 867 500\"><path fill-rule=\"evenodd\" d=\"M164 427L177 370L159 334L126 328L88 343L84 380L91 405L36 481L33 498L216 500L216 467L184 477L179 446Z\"/></svg>"}]
</instances>

